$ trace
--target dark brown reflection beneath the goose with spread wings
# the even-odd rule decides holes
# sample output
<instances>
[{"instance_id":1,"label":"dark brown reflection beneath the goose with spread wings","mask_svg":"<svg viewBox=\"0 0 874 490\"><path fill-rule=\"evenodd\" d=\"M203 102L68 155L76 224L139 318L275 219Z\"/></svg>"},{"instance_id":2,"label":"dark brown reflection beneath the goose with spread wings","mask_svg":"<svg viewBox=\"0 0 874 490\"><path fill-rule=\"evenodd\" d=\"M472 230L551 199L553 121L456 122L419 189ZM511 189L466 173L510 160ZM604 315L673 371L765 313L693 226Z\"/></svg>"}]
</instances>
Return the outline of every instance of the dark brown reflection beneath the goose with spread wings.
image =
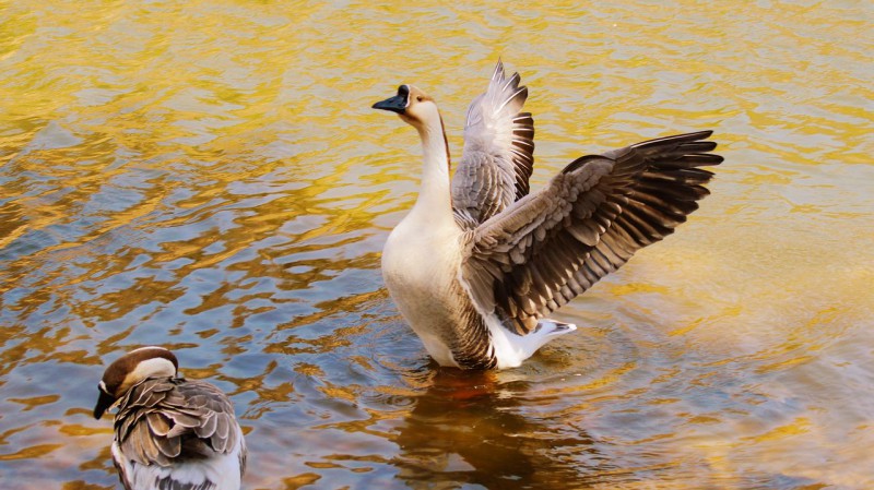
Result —
<instances>
[{"instance_id":1,"label":"dark brown reflection beneath the goose with spread wings","mask_svg":"<svg viewBox=\"0 0 874 490\"><path fill-rule=\"evenodd\" d=\"M558 488L586 478L603 459L584 432L520 408L524 381L495 372L440 368L403 421L392 459L410 488ZM580 462L580 456L587 459Z\"/></svg>"}]
</instances>

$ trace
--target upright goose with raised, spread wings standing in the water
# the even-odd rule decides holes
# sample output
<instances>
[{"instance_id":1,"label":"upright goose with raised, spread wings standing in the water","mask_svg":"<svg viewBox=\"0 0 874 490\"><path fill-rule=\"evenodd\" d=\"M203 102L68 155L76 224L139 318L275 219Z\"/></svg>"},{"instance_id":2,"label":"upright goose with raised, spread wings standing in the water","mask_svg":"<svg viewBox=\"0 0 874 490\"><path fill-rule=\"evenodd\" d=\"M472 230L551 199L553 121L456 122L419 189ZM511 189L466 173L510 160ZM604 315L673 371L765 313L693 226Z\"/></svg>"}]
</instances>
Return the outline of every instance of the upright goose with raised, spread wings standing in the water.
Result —
<instances>
[{"instance_id":1,"label":"upright goose with raised, spread wings standing in the water","mask_svg":"<svg viewBox=\"0 0 874 490\"><path fill-rule=\"evenodd\" d=\"M659 138L575 159L529 192L534 120L528 88L498 60L471 103L450 179L434 98L414 85L373 108L395 112L422 140L418 196L389 234L382 277L402 316L440 366L518 367L575 331L547 315L671 235L709 194L719 165L712 131Z\"/></svg>"}]
</instances>

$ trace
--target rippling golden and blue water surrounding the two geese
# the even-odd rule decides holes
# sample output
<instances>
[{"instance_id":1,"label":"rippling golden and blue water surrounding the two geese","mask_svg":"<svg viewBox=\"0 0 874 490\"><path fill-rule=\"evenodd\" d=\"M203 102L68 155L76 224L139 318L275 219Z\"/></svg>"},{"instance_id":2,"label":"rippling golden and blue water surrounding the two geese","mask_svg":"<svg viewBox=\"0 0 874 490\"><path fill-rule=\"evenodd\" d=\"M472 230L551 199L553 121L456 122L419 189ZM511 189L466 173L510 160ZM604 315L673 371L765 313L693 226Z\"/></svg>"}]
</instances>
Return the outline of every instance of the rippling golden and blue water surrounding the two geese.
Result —
<instances>
[{"instance_id":1,"label":"rippling golden and blue water surrounding the two geese","mask_svg":"<svg viewBox=\"0 0 874 490\"><path fill-rule=\"evenodd\" d=\"M104 366L228 392L250 489L874 487L869 2L0 4L0 474L117 488ZM413 83L459 154L521 72L536 189L716 130L712 195L520 369L428 361L382 288ZM14 482L14 483L12 483Z\"/></svg>"}]
</instances>

